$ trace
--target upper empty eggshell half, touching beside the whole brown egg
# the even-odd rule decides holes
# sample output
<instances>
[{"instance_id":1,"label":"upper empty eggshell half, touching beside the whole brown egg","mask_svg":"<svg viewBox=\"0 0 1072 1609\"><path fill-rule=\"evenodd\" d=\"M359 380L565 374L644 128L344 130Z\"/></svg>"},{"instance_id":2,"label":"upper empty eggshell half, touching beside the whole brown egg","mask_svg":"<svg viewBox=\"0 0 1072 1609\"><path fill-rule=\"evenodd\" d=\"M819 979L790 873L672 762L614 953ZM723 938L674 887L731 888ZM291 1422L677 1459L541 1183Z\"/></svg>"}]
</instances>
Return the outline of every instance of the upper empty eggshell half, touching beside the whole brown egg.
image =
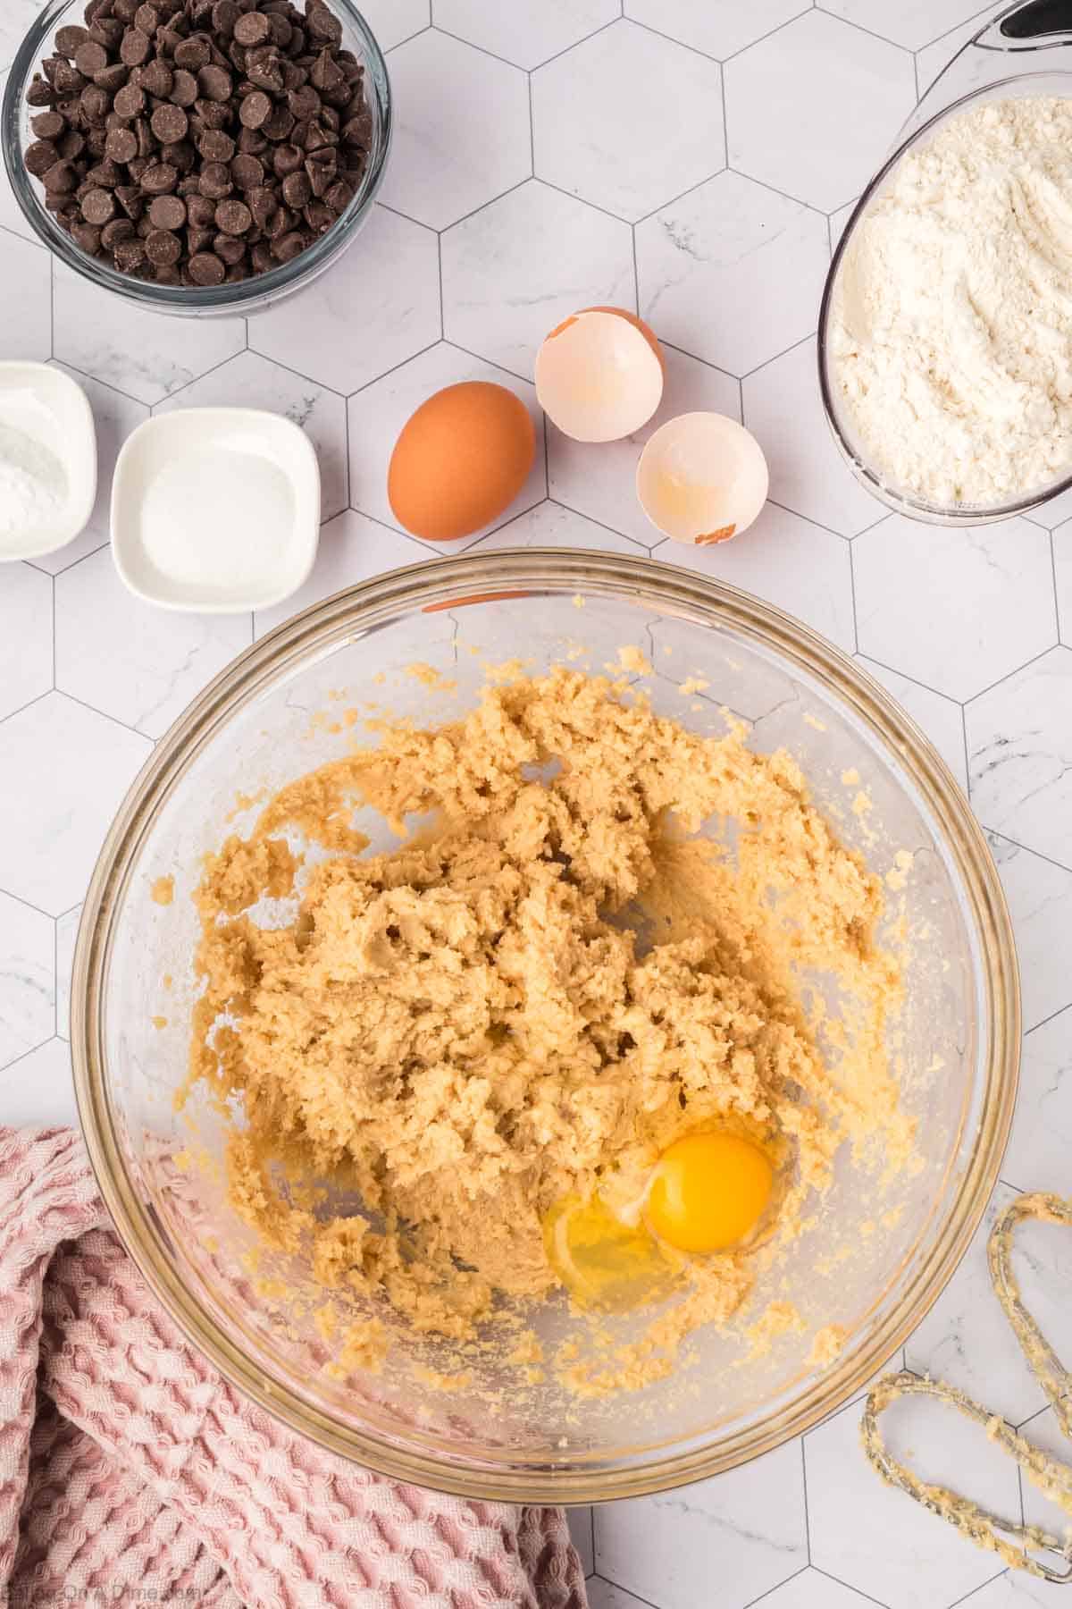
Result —
<instances>
[{"instance_id":1,"label":"upper empty eggshell half, touching beside the whole brown egg","mask_svg":"<svg viewBox=\"0 0 1072 1609\"><path fill-rule=\"evenodd\" d=\"M622 307L585 307L551 330L537 352L540 407L574 441L620 441L662 401L662 352Z\"/></svg>"}]
</instances>

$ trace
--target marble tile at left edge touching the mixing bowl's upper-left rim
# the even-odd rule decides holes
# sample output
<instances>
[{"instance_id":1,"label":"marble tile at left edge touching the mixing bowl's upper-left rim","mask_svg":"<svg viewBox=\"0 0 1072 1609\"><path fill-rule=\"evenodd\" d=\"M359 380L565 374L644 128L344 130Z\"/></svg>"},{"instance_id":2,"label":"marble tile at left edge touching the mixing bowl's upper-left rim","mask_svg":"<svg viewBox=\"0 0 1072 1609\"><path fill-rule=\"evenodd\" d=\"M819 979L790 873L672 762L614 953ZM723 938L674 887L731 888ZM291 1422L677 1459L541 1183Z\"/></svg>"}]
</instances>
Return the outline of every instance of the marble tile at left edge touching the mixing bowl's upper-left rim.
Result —
<instances>
[{"instance_id":1,"label":"marble tile at left edge touching the mixing bowl's upper-left rim","mask_svg":"<svg viewBox=\"0 0 1072 1609\"><path fill-rule=\"evenodd\" d=\"M58 916L88 883L101 840L151 750L95 710L47 693L0 724L0 888Z\"/></svg>"}]
</instances>

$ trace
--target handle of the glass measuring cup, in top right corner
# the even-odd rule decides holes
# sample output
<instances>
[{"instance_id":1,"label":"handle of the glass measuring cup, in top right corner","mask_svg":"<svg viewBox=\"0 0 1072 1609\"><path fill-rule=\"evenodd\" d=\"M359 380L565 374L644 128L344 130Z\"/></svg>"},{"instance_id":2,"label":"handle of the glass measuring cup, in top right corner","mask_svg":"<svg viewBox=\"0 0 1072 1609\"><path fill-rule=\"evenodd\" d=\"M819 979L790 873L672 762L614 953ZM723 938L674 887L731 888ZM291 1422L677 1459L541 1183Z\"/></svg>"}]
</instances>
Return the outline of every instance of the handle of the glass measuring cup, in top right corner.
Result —
<instances>
[{"instance_id":1,"label":"handle of the glass measuring cup, in top right corner","mask_svg":"<svg viewBox=\"0 0 1072 1609\"><path fill-rule=\"evenodd\" d=\"M1072 0L1016 0L972 34L945 63L919 97L919 103L897 137L900 146L926 122L964 95L1024 72L1053 71L1064 63L1048 60L1049 51L1072 45ZM1035 60L1024 60L1025 55ZM1019 60L1017 60L1019 58ZM1072 58L1067 69L1072 71Z\"/></svg>"}]
</instances>

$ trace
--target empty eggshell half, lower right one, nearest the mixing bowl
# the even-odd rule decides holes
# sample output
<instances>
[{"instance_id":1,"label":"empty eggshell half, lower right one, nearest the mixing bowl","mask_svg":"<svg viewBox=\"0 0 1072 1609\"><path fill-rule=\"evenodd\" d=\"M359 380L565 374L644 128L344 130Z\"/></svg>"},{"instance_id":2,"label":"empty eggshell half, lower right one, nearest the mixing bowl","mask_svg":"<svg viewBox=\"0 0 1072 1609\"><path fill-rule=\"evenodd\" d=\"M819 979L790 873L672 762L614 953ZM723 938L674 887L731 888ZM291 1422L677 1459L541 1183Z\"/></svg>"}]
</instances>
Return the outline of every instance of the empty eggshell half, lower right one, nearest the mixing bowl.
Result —
<instances>
[{"instance_id":1,"label":"empty eggshell half, lower right one, nearest the mixing bowl","mask_svg":"<svg viewBox=\"0 0 1072 1609\"><path fill-rule=\"evenodd\" d=\"M767 459L755 436L725 414L680 414L640 455L636 496L675 542L726 542L767 502Z\"/></svg>"}]
</instances>

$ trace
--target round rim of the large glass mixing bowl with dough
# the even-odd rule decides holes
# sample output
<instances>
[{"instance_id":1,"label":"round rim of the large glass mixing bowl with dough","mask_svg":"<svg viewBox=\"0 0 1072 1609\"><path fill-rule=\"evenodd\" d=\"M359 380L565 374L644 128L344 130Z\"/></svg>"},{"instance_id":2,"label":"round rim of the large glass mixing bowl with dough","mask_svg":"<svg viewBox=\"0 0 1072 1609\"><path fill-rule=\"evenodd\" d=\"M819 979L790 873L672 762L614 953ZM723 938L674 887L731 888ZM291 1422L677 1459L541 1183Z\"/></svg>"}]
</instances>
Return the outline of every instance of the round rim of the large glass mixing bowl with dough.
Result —
<instances>
[{"instance_id":1,"label":"round rim of the large glass mixing bowl with dough","mask_svg":"<svg viewBox=\"0 0 1072 1609\"><path fill-rule=\"evenodd\" d=\"M619 1467L505 1467L477 1461L461 1466L455 1456L431 1456L399 1440L354 1430L313 1408L223 1334L185 1286L156 1213L122 1158L122 1123L109 1099L104 1057L108 961L125 882L156 814L198 753L257 692L312 653L326 652L358 631L371 632L403 610L432 613L503 595L583 589L635 603L654 602L670 615L677 608L712 626L730 624L775 648L792 668L841 698L908 769L945 829L943 848L961 879L961 898L976 928L979 1035L985 1054L979 1133L945 1221L929 1249L924 1247L926 1255L916 1250L919 1266L894 1311L882 1315L849 1358L812 1376L807 1389L784 1405L776 1403L759 1422L707 1445L689 1443L683 1451L659 1448L654 1458ZM175 721L119 806L93 870L74 954L71 1049L87 1152L119 1237L186 1340L233 1387L326 1451L392 1479L477 1500L599 1503L670 1490L771 1451L842 1406L903 1345L959 1265L998 1179L1019 1080L1021 996L1009 912L984 832L945 761L866 671L781 610L693 571L648 557L583 549L501 549L429 560L336 592L246 648Z\"/></svg>"}]
</instances>

